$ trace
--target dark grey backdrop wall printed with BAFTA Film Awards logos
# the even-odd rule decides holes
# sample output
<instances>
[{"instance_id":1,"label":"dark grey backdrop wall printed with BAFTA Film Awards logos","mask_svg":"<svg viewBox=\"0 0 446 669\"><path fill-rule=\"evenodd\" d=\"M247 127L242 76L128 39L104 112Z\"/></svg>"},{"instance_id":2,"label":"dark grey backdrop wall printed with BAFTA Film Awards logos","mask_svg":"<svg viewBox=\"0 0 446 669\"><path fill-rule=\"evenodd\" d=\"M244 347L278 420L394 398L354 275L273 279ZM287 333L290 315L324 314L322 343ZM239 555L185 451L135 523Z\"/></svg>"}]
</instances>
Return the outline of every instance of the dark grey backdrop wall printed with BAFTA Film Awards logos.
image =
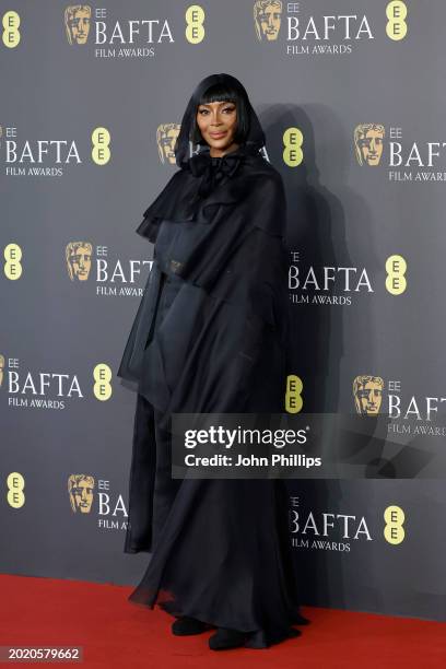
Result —
<instances>
[{"instance_id":1,"label":"dark grey backdrop wall printed with BAFTA Film Awards logos","mask_svg":"<svg viewBox=\"0 0 446 669\"><path fill-rule=\"evenodd\" d=\"M291 410L351 414L375 447L362 479L287 481L303 600L445 620L446 4L0 7L1 571L146 566L122 551L136 392L116 376L151 269L134 231L191 92L227 72L286 188Z\"/></svg>"}]
</instances>

